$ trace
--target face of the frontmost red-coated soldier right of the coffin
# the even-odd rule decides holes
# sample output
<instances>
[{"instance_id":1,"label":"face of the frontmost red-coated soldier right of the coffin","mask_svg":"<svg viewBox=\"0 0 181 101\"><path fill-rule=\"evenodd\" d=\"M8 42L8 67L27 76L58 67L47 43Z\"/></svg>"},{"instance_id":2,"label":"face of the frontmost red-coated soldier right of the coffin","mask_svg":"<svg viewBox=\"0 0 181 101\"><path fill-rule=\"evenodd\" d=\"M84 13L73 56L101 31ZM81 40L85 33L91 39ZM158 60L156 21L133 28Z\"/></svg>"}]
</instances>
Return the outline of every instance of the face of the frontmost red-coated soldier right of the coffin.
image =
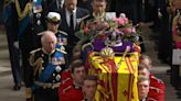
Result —
<instances>
[{"instance_id":1,"label":"face of the frontmost red-coated soldier right of the coffin","mask_svg":"<svg viewBox=\"0 0 181 101\"><path fill-rule=\"evenodd\" d=\"M145 81L138 82L139 100L147 98L148 92L149 92L149 81L145 80Z\"/></svg>"}]
</instances>

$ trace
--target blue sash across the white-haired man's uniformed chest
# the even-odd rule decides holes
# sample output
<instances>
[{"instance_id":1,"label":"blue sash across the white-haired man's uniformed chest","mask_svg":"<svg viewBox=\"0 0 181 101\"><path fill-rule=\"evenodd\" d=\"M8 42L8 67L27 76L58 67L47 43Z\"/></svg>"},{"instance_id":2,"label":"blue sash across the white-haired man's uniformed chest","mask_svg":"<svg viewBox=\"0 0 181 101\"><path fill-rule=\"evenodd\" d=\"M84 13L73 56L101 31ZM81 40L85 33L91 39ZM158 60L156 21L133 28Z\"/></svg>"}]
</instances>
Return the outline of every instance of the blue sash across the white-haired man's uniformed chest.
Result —
<instances>
[{"instance_id":1,"label":"blue sash across the white-haired man's uniformed chest","mask_svg":"<svg viewBox=\"0 0 181 101\"><path fill-rule=\"evenodd\" d=\"M61 54L60 52L55 52L53 57L61 57L63 54ZM56 68L56 64L53 63L49 63L47 66L45 67L44 71L39 76L39 81L40 82L45 82L49 80L49 78L52 76L53 71ZM33 85L32 86L32 91L34 91L35 89L40 88L41 86L36 86Z\"/></svg>"}]
</instances>

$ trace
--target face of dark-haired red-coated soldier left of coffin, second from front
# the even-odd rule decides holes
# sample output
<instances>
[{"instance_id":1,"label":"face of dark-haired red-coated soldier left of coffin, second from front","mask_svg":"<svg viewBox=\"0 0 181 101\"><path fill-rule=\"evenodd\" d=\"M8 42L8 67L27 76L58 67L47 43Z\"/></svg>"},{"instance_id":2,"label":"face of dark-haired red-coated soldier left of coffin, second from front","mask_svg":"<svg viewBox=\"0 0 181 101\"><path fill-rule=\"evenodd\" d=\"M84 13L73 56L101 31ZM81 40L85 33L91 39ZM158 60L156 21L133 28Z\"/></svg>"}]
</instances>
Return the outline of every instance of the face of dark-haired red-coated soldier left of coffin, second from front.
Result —
<instances>
[{"instance_id":1,"label":"face of dark-haired red-coated soldier left of coffin, second from front","mask_svg":"<svg viewBox=\"0 0 181 101\"><path fill-rule=\"evenodd\" d=\"M81 66L78 68L75 68L73 72L74 81L78 85L83 85L84 78L85 78L85 67Z\"/></svg>"}]
</instances>

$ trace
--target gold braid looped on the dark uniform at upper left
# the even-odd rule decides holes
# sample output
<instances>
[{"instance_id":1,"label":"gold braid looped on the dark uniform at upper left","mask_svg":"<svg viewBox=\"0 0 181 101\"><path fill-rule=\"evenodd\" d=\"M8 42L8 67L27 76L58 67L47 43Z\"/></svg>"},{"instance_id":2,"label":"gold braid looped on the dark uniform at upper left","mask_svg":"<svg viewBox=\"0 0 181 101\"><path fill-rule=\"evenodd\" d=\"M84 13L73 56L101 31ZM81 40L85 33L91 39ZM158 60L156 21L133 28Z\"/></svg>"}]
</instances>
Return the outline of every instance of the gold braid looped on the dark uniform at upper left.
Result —
<instances>
[{"instance_id":1,"label":"gold braid looped on the dark uniform at upper left","mask_svg":"<svg viewBox=\"0 0 181 101\"><path fill-rule=\"evenodd\" d=\"M15 0L15 9L17 9L17 12L18 12L19 21L21 21L23 18L26 16L26 14L29 14L31 12L31 10L32 10L32 1L30 0L25 4L24 10L21 11L20 2L19 2L19 0Z\"/></svg>"}]
</instances>

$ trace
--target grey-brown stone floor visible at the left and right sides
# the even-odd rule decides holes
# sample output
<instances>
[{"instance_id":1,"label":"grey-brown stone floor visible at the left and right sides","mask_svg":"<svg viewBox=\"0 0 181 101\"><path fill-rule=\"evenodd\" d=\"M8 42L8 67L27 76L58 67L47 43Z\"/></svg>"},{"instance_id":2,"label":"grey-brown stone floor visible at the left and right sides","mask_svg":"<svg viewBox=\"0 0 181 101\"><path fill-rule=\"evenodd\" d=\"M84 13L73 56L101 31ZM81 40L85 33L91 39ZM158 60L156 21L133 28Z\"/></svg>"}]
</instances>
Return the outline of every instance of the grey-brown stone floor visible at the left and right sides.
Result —
<instances>
[{"instance_id":1,"label":"grey-brown stone floor visible at the left and right sides","mask_svg":"<svg viewBox=\"0 0 181 101\"><path fill-rule=\"evenodd\" d=\"M166 82L166 99L164 101L181 101L181 97L177 94L177 90L170 85L170 76L166 74L166 70L170 67L166 64L161 64L157 59L157 52L155 50L153 38L150 35L152 33L148 27L148 23L142 25L143 40L147 43L146 53L153 60L152 72L161 78ZM9 53L7 48L7 37L3 31L0 31L0 101L25 101L24 88L20 91L13 91L13 80L11 75L11 68L9 63Z\"/></svg>"}]
</instances>

